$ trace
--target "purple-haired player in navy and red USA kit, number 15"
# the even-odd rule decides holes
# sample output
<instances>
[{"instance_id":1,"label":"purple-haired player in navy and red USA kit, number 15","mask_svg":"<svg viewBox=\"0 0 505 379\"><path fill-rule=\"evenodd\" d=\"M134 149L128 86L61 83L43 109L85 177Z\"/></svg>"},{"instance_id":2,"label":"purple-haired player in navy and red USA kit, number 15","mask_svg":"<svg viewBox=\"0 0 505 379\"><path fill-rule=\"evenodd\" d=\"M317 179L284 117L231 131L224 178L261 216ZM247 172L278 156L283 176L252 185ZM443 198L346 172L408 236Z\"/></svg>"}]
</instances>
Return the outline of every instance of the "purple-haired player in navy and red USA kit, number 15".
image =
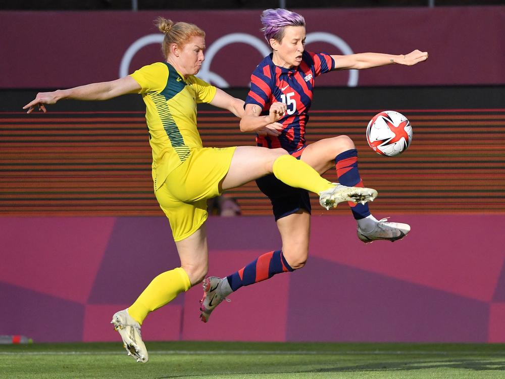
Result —
<instances>
[{"instance_id":1,"label":"purple-haired player in navy and red USA kit, number 15","mask_svg":"<svg viewBox=\"0 0 505 379\"><path fill-rule=\"evenodd\" d=\"M348 136L339 135L306 145L305 127L309 120L314 79L332 70L366 69L393 63L410 66L425 61L428 53L415 50L406 55L315 54L305 51L306 24L301 15L285 9L268 9L261 15L261 22L272 54L251 75L251 88L245 100L245 115L240 121L240 130L255 131L258 146L283 148L320 174L335 168L340 184L363 186L358 172L358 153ZM269 118L269 110L276 102L287 106L286 114L279 119L282 128L271 124ZM264 176L256 182L272 202L282 249L260 256L227 277L206 278L200 307L200 318L204 322L226 296L240 287L268 279L279 272L301 268L307 261L311 212L308 192L289 187L273 175ZM358 223L358 238L365 243L400 240L410 231L408 224L375 219L368 204L349 205ZM282 265L276 263L279 256Z\"/></svg>"}]
</instances>

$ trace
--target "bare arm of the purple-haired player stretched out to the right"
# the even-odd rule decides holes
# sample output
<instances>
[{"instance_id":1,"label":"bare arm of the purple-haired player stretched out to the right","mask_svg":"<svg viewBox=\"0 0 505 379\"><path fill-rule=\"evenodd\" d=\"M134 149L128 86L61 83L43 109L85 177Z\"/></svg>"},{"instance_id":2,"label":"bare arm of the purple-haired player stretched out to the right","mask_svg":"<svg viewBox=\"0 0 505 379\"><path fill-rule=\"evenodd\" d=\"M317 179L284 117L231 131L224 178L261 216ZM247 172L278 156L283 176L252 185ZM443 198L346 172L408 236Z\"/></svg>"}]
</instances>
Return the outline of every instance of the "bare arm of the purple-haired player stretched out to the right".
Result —
<instances>
[{"instance_id":1,"label":"bare arm of the purple-haired player stretched out to the right","mask_svg":"<svg viewBox=\"0 0 505 379\"><path fill-rule=\"evenodd\" d=\"M409 54L391 55L382 53L359 53L350 55L332 55L335 61L335 70L365 69L391 65L393 63L412 66L426 61L428 53L414 50Z\"/></svg>"}]
</instances>

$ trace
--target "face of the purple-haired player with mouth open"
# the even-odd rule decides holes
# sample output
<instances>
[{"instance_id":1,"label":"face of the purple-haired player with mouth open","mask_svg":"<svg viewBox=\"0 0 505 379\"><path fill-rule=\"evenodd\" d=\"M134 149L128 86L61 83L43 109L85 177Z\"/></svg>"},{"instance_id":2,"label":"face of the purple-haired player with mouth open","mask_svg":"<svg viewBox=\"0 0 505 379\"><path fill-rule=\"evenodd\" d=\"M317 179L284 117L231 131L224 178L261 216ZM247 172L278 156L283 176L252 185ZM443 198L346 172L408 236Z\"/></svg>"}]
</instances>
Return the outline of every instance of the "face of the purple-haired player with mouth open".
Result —
<instances>
[{"instance_id":1,"label":"face of the purple-haired player with mouth open","mask_svg":"<svg viewBox=\"0 0 505 379\"><path fill-rule=\"evenodd\" d=\"M282 40L274 47L277 66L297 67L301 63L301 53L305 50L305 26L286 26Z\"/></svg>"}]
</instances>

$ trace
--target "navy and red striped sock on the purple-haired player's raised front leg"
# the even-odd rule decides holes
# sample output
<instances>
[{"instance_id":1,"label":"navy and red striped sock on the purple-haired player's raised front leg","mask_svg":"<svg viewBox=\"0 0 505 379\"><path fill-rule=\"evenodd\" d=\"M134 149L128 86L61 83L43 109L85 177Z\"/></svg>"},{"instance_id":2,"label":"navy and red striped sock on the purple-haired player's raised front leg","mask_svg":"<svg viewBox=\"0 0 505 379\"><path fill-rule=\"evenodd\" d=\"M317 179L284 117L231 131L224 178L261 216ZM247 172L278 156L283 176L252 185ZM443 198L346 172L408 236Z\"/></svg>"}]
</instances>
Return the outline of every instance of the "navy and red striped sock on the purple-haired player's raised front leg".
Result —
<instances>
[{"instance_id":1,"label":"navy and red striped sock on the purple-haired player's raised front leg","mask_svg":"<svg viewBox=\"0 0 505 379\"><path fill-rule=\"evenodd\" d=\"M335 158L338 182L349 187L364 187L358 171L358 151L351 149L340 153ZM370 216L368 203L354 204L349 202L350 210L356 220Z\"/></svg>"}]
</instances>

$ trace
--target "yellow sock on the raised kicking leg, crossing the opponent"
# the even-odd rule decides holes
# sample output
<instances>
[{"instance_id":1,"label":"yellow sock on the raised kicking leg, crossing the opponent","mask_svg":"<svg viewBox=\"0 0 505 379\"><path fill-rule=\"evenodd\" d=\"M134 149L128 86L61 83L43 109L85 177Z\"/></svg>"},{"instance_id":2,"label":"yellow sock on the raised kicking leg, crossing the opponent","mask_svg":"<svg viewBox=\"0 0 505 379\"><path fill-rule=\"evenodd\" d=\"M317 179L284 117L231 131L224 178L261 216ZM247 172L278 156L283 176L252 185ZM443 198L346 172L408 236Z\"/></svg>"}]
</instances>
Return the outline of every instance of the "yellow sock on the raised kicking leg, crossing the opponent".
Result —
<instances>
[{"instance_id":1,"label":"yellow sock on the raised kicking leg, crossing the opponent","mask_svg":"<svg viewBox=\"0 0 505 379\"><path fill-rule=\"evenodd\" d=\"M287 185L304 188L315 194L333 186L307 163L287 154L274 161L273 171L275 177Z\"/></svg>"}]
</instances>

